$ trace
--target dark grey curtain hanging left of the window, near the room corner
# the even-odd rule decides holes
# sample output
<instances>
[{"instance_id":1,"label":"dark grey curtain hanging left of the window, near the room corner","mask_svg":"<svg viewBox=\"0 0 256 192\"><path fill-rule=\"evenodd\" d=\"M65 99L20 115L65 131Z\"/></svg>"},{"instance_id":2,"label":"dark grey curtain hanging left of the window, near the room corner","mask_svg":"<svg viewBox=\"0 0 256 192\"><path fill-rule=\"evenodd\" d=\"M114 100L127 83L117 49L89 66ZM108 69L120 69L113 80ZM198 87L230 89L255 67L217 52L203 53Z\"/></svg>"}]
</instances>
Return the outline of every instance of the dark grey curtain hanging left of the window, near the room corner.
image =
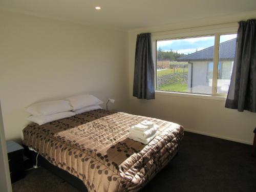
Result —
<instances>
[{"instance_id":1,"label":"dark grey curtain hanging left of the window, near the room corner","mask_svg":"<svg viewBox=\"0 0 256 192\"><path fill-rule=\"evenodd\" d=\"M150 33L137 35L133 96L139 99L155 99L154 62Z\"/></svg>"}]
</instances>

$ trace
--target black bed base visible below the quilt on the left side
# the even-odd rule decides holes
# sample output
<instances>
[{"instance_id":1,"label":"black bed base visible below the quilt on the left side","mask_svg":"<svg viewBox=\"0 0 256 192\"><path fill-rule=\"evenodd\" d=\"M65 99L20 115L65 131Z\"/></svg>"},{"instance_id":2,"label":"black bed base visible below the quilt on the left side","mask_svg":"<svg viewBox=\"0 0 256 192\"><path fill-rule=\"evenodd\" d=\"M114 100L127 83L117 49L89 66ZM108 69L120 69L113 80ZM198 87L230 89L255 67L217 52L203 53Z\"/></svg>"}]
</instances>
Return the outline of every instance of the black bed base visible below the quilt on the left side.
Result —
<instances>
[{"instance_id":1,"label":"black bed base visible below the quilt on the left side","mask_svg":"<svg viewBox=\"0 0 256 192\"><path fill-rule=\"evenodd\" d=\"M34 151L29 150L29 147L24 145L24 155L28 157L33 164L36 164L36 156L37 153ZM62 180L68 182L73 187L77 188L78 190L82 192L88 192L88 189L86 188L86 185L82 182L82 180L78 179L77 177L71 175L66 170L63 170L53 164L51 164L49 161L47 161L44 157L42 157L40 154L37 157L37 166L42 166L49 170L54 175L58 176Z\"/></svg>"}]
</instances>

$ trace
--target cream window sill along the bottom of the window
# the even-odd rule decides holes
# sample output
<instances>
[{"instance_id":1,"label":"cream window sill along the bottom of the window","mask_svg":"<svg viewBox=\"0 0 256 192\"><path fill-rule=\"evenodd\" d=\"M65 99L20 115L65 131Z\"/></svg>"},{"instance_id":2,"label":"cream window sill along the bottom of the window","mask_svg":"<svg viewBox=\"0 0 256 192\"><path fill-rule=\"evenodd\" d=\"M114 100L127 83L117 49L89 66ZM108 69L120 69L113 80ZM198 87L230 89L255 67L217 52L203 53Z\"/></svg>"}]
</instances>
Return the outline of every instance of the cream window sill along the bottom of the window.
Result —
<instances>
[{"instance_id":1,"label":"cream window sill along the bottom of the window","mask_svg":"<svg viewBox=\"0 0 256 192\"><path fill-rule=\"evenodd\" d=\"M211 99L211 100L226 100L226 95L203 95L203 94L195 94L195 93L178 93L178 92L166 92L166 91L155 91L156 95L168 95L174 97L190 97L190 98L198 98L198 99Z\"/></svg>"}]
</instances>

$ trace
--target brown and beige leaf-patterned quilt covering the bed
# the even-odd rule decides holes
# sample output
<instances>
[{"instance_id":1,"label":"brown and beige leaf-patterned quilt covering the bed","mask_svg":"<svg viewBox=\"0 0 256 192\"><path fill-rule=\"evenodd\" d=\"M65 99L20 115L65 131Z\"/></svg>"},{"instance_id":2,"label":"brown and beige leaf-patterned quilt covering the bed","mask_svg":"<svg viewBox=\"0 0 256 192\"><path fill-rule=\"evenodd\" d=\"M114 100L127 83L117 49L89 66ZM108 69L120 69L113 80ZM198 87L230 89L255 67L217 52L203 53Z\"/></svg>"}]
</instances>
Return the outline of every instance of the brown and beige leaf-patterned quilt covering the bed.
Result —
<instances>
[{"instance_id":1,"label":"brown and beige leaf-patterned quilt covering the bed","mask_svg":"<svg viewBox=\"0 0 256 192\"><path fill-rule=\"evenodd\" d=\"M148 144L127 137L142 120L159 125ZM23 144L81 179L89 191L138 191L177 153L183 127L160 119L94 110L23 130Z\"/></svg>"}]
</instances>

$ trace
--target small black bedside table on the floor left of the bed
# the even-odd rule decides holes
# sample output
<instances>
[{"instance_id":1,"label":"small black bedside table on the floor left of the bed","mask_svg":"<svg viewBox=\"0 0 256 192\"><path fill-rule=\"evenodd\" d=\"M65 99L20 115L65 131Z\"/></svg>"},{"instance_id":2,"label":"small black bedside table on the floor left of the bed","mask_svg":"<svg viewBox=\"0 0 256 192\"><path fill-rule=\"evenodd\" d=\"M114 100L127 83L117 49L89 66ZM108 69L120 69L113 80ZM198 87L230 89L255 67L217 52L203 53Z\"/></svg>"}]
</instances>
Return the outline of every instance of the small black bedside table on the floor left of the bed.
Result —
<instances>
[{"instance_id":1,"label":"small black bedside table on the floor left of the bed","mask_svg":"<svg viewBox=\"0 0 256 192\"><path fill-rule=\"evenodd\" d=\"M24 148L14 141L7 141L7 153L12 183L25 177Z\"/></svg>"}]
</instances>

